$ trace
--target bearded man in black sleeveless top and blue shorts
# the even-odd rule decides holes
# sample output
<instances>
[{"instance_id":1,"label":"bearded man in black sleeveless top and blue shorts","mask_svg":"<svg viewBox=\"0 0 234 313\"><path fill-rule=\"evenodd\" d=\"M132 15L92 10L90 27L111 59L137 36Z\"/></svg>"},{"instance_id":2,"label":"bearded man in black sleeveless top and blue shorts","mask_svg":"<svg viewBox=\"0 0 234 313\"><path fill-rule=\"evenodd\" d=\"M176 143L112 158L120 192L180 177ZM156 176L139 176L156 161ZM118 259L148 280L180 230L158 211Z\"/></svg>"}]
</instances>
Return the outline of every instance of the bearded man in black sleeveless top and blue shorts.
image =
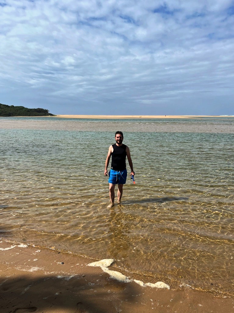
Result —
<instances>
[{"instance_id":1,"label":"bearded man in black sleeveless top and blue shorts","mask_svg":"<svg viewBox=\"0 0 234 313\"><path fill-rule=\"evenodd\" d=\"M108 208L112 208L115 205L115 185L118 183L118 203L121 202L121 197L123 194L123 185L126 183L127 170L126 170L126 156L128 158L129 166L131 168L130 175L135 175L133 171L132 159L130 156L129 147L122 143L124 135L122 131L116 131L114 145L109 147L108 155L106 158L104 175L108 176L107 167L111 160L111 169L109 172L109 190L110 190L110 205Z\"/></svg>"}]
</instances>

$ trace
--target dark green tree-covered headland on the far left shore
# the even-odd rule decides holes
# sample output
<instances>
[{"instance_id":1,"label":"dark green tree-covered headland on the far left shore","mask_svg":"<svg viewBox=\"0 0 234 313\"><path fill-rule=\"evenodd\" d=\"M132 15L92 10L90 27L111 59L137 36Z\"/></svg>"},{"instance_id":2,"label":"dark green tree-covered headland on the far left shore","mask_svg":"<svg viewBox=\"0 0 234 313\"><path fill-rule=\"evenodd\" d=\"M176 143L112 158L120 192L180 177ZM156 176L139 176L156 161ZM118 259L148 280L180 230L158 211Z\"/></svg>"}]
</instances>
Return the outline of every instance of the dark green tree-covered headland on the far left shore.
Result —
<instances>
[{"instance_id":1,"label":"dark green tree-covered headland on the far left shore","mask_svg":"<svg viewBox=\"0 0 234 313\"><path fill-rule=\"evenodd\" d=\"M46 109L28 109L24 106L6 105L0 103L0 116L55 116Z\"/></svg>"}]
</instances>

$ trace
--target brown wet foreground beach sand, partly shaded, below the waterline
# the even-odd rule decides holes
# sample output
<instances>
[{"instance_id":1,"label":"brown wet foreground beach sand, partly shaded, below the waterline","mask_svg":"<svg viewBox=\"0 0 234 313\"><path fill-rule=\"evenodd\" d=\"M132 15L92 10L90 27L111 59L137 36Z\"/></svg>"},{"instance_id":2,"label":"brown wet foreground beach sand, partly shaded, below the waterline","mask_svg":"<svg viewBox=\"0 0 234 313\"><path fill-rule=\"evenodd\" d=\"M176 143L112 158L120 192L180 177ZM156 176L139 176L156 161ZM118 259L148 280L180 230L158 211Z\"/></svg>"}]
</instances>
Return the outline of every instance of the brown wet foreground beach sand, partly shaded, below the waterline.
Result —
<instances>
[{"instance_id":1,"label":"brown wet foreground beach sand, partly shaded, below the waterline","mask_svg":"<svg viewBox=\"0 0 234 313\"><path fill-rule=\"evenodd\" d=\"M100 267L87 266L93 260L12 246L0 243L1 313L233 312L233 298L121 283ZM146 282L144 276L131 278Z\"/></svg>"}]
</instances>

